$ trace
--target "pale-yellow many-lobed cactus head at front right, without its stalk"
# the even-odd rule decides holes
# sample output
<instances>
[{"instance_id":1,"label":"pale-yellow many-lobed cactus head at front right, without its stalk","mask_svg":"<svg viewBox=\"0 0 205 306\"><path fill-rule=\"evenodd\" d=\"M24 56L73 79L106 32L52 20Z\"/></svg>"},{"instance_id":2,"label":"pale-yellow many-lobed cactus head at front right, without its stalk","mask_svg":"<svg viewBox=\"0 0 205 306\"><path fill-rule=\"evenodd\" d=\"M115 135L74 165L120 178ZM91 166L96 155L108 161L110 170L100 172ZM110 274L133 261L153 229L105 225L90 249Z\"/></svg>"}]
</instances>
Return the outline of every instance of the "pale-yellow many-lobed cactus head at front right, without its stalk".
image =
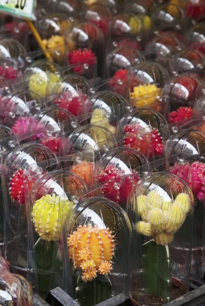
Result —
<instances>
[{"instance_id":1,"label":"pale-yellow many-lobed cactus head at front right, without its stalk","mask_svg":"<svg viewBox=\"0 0 205 306\"><path fill-rule=\"evenodd\" d=\"M138 233L153 236L157 244L169 244L191 209L188 194L179 193L174 201L165 201L156 191L150 191L147 196L137 198L138 214L142 221L136 225Z\"/></svg>"}]
</instances>

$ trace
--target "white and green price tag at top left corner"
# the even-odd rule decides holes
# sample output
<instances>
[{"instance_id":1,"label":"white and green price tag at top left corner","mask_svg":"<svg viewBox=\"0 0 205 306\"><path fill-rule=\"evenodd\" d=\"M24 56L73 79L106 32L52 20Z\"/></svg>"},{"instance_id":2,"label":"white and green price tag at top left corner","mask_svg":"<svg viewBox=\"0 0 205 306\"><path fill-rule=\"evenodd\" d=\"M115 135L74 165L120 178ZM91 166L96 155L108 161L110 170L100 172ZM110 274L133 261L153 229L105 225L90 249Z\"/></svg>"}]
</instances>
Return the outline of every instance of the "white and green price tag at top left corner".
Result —
<instances>
[{"instance_id":1,"label":"white and green price tag at top left corner","mask_svg":"<svg viewBox=\"0 0 205 306\"><path fill-rule=\"evenodd\" d=\"M35 0L0 0L0 11L32 19Z\"/></svg>"}]
</instances>

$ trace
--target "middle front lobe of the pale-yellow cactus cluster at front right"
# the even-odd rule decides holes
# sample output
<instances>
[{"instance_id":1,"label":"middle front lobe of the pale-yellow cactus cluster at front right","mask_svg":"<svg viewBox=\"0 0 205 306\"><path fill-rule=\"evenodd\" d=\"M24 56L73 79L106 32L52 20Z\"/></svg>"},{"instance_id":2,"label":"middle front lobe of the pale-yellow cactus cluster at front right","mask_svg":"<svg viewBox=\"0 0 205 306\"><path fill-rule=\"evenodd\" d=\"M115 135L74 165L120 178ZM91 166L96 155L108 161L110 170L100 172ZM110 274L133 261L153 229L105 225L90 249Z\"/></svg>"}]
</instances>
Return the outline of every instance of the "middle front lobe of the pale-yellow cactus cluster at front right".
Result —
<instances>
[{"instance_id":1,"label":"middle front lobe of the pale-yellow cactus cluster at front right","mask_svg":"<svg viewBox=\"0 0 205 306\"><path fill-rule=\"evenodd\" d=\"M161 232L165 226L165 217L160 208L152 208L148 213L147 220L156 233Z\"/></svg>"}]
</instances>

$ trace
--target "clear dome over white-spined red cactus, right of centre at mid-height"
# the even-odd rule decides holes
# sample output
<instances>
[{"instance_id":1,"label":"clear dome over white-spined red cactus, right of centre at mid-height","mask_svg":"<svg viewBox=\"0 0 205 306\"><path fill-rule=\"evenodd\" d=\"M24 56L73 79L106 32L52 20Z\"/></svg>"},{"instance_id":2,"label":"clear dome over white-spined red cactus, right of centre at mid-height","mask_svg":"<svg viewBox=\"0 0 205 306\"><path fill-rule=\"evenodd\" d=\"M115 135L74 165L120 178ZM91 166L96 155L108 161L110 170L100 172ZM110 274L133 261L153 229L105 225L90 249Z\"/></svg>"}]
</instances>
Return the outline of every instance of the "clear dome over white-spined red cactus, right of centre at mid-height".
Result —
<instances>
[{"instance_id":1,"label":"clear dome over white-spined red cactus, right of centre at mid-height","mask_svg":"<svg viewBox=\"0 0 205 306\"><path fill-rule=\"evenodd\" d=\"M149 159L161 157L164 152L162 138L165 118L157 111L139 108L121 119L124 146L140 151Z\"/></svg>"}]
</instances>

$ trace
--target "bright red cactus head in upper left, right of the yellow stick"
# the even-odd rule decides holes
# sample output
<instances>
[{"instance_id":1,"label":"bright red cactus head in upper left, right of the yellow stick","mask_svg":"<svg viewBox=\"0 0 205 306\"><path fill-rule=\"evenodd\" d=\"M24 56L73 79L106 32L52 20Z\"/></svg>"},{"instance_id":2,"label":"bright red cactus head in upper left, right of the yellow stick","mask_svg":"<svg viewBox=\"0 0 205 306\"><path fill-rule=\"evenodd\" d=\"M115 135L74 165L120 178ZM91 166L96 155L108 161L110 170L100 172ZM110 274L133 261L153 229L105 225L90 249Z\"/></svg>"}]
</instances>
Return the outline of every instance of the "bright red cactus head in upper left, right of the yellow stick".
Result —
<instances>
[{"instance_id":1,"label":"bright red cactus head in upper left, right of the yellow stick","mask_svg":"<svg viewBox=\"0 0 205 306\"><path fill-rule=\"evenodd\" d=\"M93 66L97 62L94 52L88 49L74 50L73 52L68 54L68 58L70 64L78 64L78 63L80 64L80 66L76 66L73 68L73 72L81 72L83 64L88 64L89 66Z\"/></svg>"}]
</instances>

